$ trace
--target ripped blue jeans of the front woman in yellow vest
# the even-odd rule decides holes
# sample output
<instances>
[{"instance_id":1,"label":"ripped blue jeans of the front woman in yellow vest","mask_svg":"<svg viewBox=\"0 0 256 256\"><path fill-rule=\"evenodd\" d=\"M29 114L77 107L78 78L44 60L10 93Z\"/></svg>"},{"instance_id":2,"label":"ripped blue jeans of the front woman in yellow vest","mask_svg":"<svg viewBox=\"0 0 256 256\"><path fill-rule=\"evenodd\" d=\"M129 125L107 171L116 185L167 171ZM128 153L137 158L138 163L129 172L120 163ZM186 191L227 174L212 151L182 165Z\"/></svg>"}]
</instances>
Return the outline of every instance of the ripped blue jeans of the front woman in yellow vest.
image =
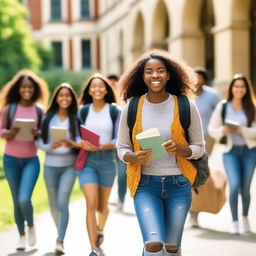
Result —
<instances>
[{"instance_id":1,"label":"ripped blue jeans of the front woman in yellow vest","mask_svg":"<svg viewBox=\"0 0 256 256\"><path fill-rule=\"evenodd\" d=\"M142 175L134 206L144 243L179 248L190 205L191 186L183 175Z\"/></svg>"}]
</instances>

